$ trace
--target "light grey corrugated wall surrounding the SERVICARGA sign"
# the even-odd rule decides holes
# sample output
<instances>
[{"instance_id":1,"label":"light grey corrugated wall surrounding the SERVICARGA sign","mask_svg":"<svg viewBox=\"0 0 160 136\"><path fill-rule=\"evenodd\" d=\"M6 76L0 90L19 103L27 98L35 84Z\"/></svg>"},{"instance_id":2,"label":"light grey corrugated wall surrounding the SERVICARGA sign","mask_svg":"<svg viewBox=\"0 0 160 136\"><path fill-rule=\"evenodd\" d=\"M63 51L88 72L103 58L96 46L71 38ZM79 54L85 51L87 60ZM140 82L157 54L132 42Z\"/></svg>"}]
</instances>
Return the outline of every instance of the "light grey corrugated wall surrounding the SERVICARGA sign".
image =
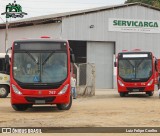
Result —
<instances>
[{"instance_id":1,"label":"light grey corrugated wall surrounding the SERVICARGA sign","mask_svg":"<svg viewBox=\"0 0 160 136\"><path fill-rule=\"evenodd\" d=\"M160 58L160 34L109 32L108 18L159 20L160 12L137 5L64 17L62 36L70 40L115 41L116 53L123 49L140 48L152 51Z\"/></svg>"}]
</instances>

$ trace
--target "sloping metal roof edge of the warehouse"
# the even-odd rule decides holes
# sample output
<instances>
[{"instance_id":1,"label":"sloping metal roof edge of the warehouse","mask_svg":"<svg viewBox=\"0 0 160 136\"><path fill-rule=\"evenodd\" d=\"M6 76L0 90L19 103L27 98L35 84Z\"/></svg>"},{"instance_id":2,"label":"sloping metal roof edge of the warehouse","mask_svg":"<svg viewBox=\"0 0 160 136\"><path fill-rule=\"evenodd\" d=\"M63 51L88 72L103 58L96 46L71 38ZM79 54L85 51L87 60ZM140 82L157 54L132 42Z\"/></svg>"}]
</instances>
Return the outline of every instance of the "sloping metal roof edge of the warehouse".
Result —
<instances>
[{"instance_id":1,"label":"sloping metal roof edge of the warehouse","mask_svg":"<svg viewBox=\"0 0 160 136\"><path fill-rule=\"evenodd\" d=\"M151 5L135 2L135 3L129 3L129 4L103 6L103 7L91 8L91 9L84 9L84 10L78 10L78 11L71 11L71 12L64 12L64 13L58 13L58 14L50 14L45 16L21 19L18 21L9 22L9 28L24 27L24 26L31 26L31 25L37 25L37 24L60 23L62 22L62 17L88 14L88 13L94 13L94 12L105 11L105 10L113 10L117 8L124 8L124 7L135 6L135 5L160 11L159 8L153 7ZM0 29L5 29L5 27L6 27L5 23L0 24Z\"/></svg>"}]
</instances>

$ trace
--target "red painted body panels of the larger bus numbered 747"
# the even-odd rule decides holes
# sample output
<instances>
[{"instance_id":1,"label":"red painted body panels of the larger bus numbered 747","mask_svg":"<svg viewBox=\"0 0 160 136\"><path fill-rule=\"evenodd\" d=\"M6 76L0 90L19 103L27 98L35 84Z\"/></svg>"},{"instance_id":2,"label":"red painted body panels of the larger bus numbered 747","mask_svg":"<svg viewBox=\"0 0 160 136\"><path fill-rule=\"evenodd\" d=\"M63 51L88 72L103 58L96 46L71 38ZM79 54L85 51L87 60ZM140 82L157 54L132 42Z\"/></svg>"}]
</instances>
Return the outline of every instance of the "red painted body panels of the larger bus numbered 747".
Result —
<instances>
[{"instance_id":1,"label":"red painted body panels of the larger bus numbered 747","mask_svg":"<svg viewBox=\"0 0 160 136\"><path fill-rule=\"evenodd\" d=\"M45 39L46 37L42 37L43 41L47 41ZM29 41L29 39L27 39ZM36 39L37 40L37 39ZM50 39L49 39L50 40ZM25 40L26 41L26 40ZM34 41L32 39L32 41ZM56 40L58 41L58 40ZM12 46L12 57L11 57L11 69L10 69L10 90L11 90L11 104L36 104L34 102L29 102L27 101L27 97L30 99L48 99L50 97L54 98L53 101L51 102L46 102L45 104L66 104L69 103L70 101L70 93L71 93L71 84L70 84L70 69L71 69L71 64L70 64L70 51L69 51L69 44L68 41L65 41L67 43L67 78L65 81L56 89L22 89L20 85L16 82L16 80L13 78L13 59L14 59L14 45ZM16 94L13 91L12 84L17 87L17 89L22 93L21 95ZM67 91L64 94L58 94L65 85L69 85Z\"/></svg>"}]
</instances>

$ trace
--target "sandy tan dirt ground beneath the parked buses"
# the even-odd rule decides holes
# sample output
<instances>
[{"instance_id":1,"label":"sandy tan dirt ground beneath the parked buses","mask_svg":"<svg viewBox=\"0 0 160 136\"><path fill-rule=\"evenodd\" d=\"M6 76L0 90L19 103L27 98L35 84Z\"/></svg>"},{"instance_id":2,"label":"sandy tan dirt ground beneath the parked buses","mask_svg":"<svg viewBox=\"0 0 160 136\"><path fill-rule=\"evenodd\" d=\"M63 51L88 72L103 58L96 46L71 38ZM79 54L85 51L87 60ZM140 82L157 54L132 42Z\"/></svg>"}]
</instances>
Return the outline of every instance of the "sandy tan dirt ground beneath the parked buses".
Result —
<instances>
[{"instance_id":1,"label":"sandy tan dirt ground beneath the parked buses","mask_svg":"<svg viewBox=\"0 0 160 136\"><path fill-rule=\"evenodd\" d=\"M117 90L96 90L96 96L77 98L69 111L36 106L14 111L10 98L0 99L0 127L160 127L160 99Z\"/></svg>"}]
</instances>

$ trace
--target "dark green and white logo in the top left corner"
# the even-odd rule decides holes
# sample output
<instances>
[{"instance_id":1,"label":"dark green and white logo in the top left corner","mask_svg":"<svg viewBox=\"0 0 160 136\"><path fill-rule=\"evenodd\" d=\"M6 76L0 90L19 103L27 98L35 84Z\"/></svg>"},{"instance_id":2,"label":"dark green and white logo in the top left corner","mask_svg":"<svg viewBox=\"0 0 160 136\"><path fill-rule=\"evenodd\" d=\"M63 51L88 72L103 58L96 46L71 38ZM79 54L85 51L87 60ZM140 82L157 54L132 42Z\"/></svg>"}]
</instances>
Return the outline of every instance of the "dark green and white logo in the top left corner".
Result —
<instances>
[{"instance_id":1,"label":"dark green and white logo in the top left corner","mask_svg":"<svg viewBox=\"0 0 160 136\"><path fill-rule=\"evenodd\" d=\"M14 1L14 3L6 5L6 12L1 15L6 15L6 18L23 18L27 13L23 12L22 6Z\"/></svg>"}]
</instances>

